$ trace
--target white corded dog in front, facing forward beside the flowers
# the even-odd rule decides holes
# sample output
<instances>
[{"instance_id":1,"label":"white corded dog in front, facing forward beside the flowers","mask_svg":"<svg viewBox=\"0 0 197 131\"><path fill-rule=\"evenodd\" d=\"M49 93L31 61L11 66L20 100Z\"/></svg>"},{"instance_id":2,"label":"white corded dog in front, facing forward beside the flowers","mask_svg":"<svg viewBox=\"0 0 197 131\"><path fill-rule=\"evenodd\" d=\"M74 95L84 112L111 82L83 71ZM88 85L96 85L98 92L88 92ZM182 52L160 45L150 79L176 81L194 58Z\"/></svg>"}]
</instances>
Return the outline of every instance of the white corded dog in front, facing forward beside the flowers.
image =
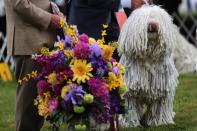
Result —
<instances>
[{"instance_id":1,"label":"white corded dog in front, facing forward beside the flowers","mask_svg":"<svg viewBox=\"0 0 197 131\"><path fill-rule=\"evenodd\" d=\"M158 126L174 123L173 100L178 83L172 51L177 29L159 6L144 5L133 11L119 38L128 113L120 126Z\"/></svg>"}]
</instances>

